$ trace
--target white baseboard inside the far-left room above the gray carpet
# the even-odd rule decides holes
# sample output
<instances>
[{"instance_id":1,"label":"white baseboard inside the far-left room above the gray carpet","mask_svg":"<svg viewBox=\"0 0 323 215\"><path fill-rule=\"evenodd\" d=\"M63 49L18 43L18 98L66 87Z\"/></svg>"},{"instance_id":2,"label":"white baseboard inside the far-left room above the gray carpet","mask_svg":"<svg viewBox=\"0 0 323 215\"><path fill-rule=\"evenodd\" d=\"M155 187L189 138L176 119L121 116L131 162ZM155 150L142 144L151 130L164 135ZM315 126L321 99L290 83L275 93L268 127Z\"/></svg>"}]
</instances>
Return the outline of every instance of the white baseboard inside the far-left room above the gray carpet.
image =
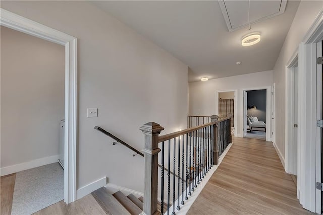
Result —
<instances>
[{"instance_id":1,"label":"white baseboard inside the far-left room above the gray carpet","mask_svg":"<svg viewBox=\"0 0 323 215\"><path fill-rule=\"evenodd\" d=\"M40 167L46 164L51 164L58 162L59 155L54 155L50 157L44 157L36 160L31 160L30 162L24 162L20 164L15 164L8 167L0 168L0 176L5 176L12 173L17 173L19 171L28 170L35 167Z\"/></svg>"}]
</instances>

